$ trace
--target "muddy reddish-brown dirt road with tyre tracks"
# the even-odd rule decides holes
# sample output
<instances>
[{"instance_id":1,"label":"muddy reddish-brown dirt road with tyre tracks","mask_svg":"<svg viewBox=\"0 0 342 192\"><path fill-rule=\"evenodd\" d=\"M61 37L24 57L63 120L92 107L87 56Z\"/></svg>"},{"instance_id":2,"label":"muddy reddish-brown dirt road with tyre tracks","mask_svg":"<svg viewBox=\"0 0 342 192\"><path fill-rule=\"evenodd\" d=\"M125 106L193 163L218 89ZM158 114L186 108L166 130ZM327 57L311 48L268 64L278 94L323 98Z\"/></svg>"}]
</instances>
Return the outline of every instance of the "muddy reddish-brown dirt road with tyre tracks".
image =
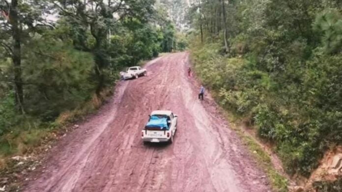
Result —
<instances>
[{"instance_id":1,"label":"muddy reddish-brown dirt road with tyre tracks","mask_svg":"<svg viewBox=\"0 0 342 192\"><path fill-rule=\"evenodd\" d=\"M198 100L188 57L166 55L146 65L147 77L121 82L97 115L57 142L24 191L270 191L212 98ZM157 109L179 117L171 145L142 144L141 129Z\"/></svg>"}]
</instances>

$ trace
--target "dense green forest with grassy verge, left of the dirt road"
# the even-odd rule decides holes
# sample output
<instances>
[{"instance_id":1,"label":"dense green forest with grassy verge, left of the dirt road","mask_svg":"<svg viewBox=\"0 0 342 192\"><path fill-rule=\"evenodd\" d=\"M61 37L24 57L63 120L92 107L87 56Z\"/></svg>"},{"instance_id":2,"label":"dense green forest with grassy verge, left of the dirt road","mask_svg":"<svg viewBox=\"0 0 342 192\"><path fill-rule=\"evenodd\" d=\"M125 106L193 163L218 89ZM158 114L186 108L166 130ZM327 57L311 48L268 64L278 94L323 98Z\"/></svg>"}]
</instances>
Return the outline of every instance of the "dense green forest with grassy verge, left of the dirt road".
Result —
<instances>
[{"instance_id":1,"label":"dense green forest with grassy verge, left of the dirt road","mask_svg":"<svg viewBox=\"0 0 342 192\"><path fill-rule=\"evenodd\" d=\"M154 0L1 0L0 157L100 106L118 72L186 45Z\"/></svg>"}]
</instances>

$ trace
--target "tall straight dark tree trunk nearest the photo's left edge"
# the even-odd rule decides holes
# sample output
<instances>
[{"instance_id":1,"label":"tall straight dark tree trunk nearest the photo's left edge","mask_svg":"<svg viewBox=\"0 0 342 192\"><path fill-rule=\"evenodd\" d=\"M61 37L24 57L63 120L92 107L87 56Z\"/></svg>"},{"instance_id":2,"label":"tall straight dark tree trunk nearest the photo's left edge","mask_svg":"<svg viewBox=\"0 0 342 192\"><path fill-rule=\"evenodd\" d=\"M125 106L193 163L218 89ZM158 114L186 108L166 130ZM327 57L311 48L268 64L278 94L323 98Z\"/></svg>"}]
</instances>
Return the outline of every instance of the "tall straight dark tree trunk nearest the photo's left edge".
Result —
<instances>
[{"instance_id":1,"label":"tall straight dark tree trunk nearest the photo's left edge","mask_svg":"<svg viewBox=\"0 0 342 192\"><path fill-rule=\"evenodd\" d=\"M18 16L18 0L11 1L11 10L9 12L10 24L12 25L13 55L14 65L14 90L17 110L24 114L24 93L21 71L21 26Z\"/></svg>"}]
</instances>

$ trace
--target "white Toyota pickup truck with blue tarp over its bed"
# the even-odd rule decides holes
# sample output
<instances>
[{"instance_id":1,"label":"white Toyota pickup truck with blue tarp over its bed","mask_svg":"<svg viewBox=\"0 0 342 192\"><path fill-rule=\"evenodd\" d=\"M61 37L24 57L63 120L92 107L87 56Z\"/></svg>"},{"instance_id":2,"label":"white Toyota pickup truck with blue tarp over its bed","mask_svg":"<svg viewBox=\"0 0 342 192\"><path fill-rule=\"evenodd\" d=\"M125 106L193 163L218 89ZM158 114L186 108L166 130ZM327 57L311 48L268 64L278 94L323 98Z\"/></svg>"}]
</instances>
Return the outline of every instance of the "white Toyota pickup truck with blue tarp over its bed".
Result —
<instances>
[{"instance_id":1,"label":"white Toyota pickup truck with blue tarp over its bed","mask_svg":"<svg viewBox=\"0 0 342 192\"><path fill-rule=\"evenodd\" d=\"M146 126L142 129L142 141L144 144L148 142L171 144L176 129L177 115L171 111L153 111Z\"/></svg>"}]
</instances>

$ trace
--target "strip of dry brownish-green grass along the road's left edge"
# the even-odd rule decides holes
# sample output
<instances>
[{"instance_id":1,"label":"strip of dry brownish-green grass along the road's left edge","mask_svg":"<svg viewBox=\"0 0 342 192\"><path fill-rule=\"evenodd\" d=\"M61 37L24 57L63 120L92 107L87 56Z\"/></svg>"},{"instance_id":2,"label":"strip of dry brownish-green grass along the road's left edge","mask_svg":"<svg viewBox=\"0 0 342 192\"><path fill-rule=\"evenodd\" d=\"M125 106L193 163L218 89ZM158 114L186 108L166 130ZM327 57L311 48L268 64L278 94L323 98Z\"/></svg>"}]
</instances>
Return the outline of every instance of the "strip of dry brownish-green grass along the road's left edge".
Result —
<instances>
[{"instance_id":1,"label":"strip of dry brownish-green grass along the road's left edge","mask_svg":"<svg viewBox=\"0 0 342 192\"><path fill-rule=\"evenodd\" d=\"M70 123L96 111L101 106L103 98L108 94L108 90L105 90L100 98L94 95L90 101L75 110L60 114L54 122L42 123L33 118L23 119L19 125L12 127L11 132L0 137L0 161L8 156L33 152L34 148L39 146L44 139L52 139L57 130L66 129L65 127Z\"/></svg>"}]
</instances>

